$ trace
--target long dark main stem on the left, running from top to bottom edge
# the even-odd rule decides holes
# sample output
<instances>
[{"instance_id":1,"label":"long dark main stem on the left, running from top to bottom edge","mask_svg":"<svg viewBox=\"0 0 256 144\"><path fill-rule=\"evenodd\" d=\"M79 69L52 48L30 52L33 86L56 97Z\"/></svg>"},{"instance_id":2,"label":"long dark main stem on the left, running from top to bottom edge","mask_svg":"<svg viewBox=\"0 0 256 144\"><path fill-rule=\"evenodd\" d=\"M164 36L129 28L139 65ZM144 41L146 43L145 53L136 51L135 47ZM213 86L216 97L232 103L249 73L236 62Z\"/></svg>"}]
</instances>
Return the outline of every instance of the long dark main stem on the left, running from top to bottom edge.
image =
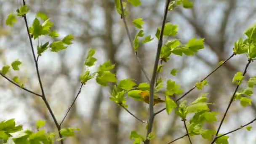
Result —
<instances>
[{"instance_id":1,"label":"long dark main stem on the left, running from top to bottom edge","mask_svg":"<svg viewBox=\"0 0 256 144\"><path fill-rule=\"evenodd\" d=\"M23 5L26 5L25 0L23 0ZM32 38L31 38L31 36L29 34L29 26L28 26L26 14L24 14L23 17L24 17L24 21L25 21L25 24L26 24L26 27L27 27L27 34L29 36L30 47L31 47L31 50L32 50L32 54L33 54L33 58L34 58L34 62L35 62L35 67L36 67L36 71L37 71L37 78L38 78L38 81L39 81L39 84L40 84L40 88L41 88L41 92L42 92L42 99L45 102L45 105L46 105L48 111L50 112L51 117L53 118L53 121L54 121L54 123L55 123L55 125L56 125L56 127L57 127L57 129L59 131L59 137L62 138L61 133L60 133L61 127L60 127L59 123L57 122L56 117L53 114L53 111L52 111L52 109L51 109L51 107L50 107L50 105L49 105L49 103L48 103L48 101L47 101L47 99L45 97L45 93L44 93L44 89L43 89L43 84L42 84L42 81L41 81L41 78L40 78L40 74L39 74L39 69L38 69L38 63L37 63L38 59L36 59L35 51L34 51L34 47L33 47L33 43L32 43ZM61 139L61 144L64 144L63 139Z\"/></svg>"}]
</instances>

